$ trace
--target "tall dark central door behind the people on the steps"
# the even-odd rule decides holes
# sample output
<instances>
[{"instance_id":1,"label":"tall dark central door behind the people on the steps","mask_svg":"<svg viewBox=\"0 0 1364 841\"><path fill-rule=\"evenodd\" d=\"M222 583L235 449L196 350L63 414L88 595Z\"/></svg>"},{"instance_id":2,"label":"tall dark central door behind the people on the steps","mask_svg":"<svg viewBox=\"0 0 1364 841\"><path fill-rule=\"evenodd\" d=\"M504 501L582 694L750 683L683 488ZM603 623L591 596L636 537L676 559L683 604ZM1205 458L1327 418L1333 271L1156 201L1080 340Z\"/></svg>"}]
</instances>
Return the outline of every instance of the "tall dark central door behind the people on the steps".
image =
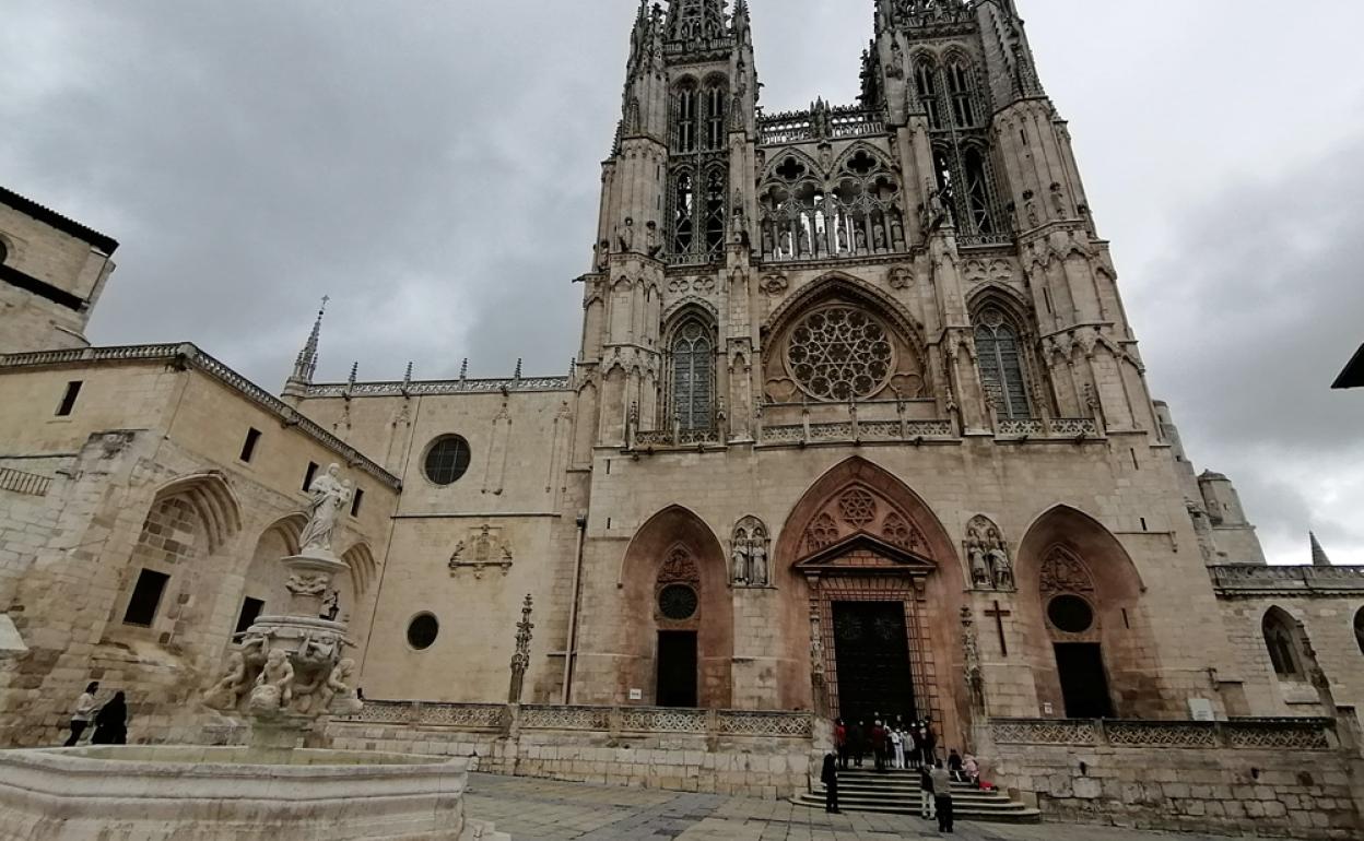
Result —
<instances>
[{"instance_id":1,"label":"tall dark central door behind the people on the steps","mask_svg":"<svg viewBox=\"0 0 1364 841\"><path fill-rule=\"evenodd\" d=\"M876 713L892 720L918 718L904 602L833 602L833 657L842 718L868 727Z\"/></svg>"}]
</instances>

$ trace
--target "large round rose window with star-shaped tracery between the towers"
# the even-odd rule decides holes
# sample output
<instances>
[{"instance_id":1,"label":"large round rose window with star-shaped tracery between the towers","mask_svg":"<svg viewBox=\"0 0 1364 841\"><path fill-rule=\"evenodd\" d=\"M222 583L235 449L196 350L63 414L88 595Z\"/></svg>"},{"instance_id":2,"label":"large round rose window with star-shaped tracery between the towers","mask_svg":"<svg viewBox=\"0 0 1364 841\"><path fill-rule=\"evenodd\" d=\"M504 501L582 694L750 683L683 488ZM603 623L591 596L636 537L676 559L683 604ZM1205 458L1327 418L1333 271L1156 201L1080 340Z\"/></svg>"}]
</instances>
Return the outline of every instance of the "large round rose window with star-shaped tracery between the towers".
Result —
<instances>
[{"instance_id":1,"label":"large round rose window with star-shaped tracery between the towers","mask_svg":"<svg viewBox=\"0 0 1364 841\"><path fill-rule=\"evenodd\" d=\"M786 358L801 388L824 401L872 397L895 371L885 327L851 307L828 307L806 316L791 331Z\"/></svg>"}]
</instances>

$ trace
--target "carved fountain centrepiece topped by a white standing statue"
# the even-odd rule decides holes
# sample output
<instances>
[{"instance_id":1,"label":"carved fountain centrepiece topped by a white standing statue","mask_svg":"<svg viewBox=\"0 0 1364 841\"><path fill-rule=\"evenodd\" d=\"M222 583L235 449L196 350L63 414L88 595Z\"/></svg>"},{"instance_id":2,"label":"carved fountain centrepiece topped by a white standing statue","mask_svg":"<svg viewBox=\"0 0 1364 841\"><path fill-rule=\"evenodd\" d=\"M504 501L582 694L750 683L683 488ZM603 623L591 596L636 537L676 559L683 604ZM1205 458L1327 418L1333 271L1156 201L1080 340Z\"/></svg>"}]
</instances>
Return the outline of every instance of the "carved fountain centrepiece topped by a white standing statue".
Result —
<instances>
[{"instance_id":1,"label":"carved fountain centrepiece topped by a white standing statue","mask_svg":"<svg viewBox=\"0 0 1364 841\"><path fill-rule=\"evenodd\" d=\"M341 511L353 485L341 480L337 465L308 488L308 525L297 555L280 560L289 570L288 609L256 619L228 654L221 677L203 695L220 713L243 716L252 724L252 746L299 747L303 737L333 714L359 713L353 647L345 623L323 602L334 593L333 579L348 571L331 548Z\"/></svg>"}]
</instances>

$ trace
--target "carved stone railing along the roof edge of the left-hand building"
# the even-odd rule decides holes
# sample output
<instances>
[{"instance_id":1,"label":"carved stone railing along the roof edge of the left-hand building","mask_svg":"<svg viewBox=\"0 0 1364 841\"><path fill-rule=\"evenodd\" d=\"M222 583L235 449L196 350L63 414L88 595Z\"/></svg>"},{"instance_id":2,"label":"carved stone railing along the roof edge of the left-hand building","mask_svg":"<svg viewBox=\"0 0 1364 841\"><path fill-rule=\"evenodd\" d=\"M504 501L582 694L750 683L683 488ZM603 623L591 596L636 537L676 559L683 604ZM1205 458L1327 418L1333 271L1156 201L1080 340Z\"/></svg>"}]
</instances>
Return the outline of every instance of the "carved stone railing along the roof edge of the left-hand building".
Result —
<instances>
[{"instance_id":1,"label":"carved stone railing along the roof edge of the left-hand building","mask_svg":"<svg viewBox=\"0 0 1364 841\"><path fill-rule=\"evenodd\" d=\"M116 348L76 348L72 350L40 350L37 353L10 353L0 356L0 368L25 368L41 365L64 365L75 363L119 363L119 361L165 361L170 367L195 368L224 386L235 390L241 397L270 412L284 425L296 427L326 448L345 459L352 468L368 473L379 483L398 489L402 481L360 454L359 450L346 444L336 435L331 435L318 424L300 414L276 395L261 386L256 386L232 368L209 356L198 346L183 342L179 345L125 345Z\"/></svg>"}]
</instances>

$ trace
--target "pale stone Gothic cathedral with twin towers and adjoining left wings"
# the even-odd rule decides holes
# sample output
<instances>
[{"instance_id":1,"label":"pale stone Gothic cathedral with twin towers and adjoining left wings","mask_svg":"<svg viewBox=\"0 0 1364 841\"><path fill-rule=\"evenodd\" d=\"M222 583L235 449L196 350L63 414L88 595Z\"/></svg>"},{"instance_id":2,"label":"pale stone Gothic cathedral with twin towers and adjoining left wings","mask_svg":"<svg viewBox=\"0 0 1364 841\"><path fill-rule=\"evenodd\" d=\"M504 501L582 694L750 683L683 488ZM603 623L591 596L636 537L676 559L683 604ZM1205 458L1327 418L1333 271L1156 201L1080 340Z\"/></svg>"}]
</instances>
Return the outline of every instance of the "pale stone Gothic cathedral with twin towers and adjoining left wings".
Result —
<instances>
[{"instance_id":1,"label":"pale stone Gothic cathedral with twin towers and adjoining left wings","mask_svg":"<svg viewBox=\"0 0 1364 841\"><path fill-rule=\"evenodd\" d=\"M329 462L364 491L340 602L370 699L503 701L529 594L528 703L970 746L1364 702L1364 570L1267 567L1195 473L1013 1L877 0L858 101L788 113L726 5L640 7L567 375L316 383L315 327L274 398L7 311L38 338L0 349L33 352L0 356L0 466L52 484L0 492L34 536L0 552L7 712L50 727L98 664L184 724ZM45 237L0 221L26 271Z\"/></svg>"}]
</instances>

